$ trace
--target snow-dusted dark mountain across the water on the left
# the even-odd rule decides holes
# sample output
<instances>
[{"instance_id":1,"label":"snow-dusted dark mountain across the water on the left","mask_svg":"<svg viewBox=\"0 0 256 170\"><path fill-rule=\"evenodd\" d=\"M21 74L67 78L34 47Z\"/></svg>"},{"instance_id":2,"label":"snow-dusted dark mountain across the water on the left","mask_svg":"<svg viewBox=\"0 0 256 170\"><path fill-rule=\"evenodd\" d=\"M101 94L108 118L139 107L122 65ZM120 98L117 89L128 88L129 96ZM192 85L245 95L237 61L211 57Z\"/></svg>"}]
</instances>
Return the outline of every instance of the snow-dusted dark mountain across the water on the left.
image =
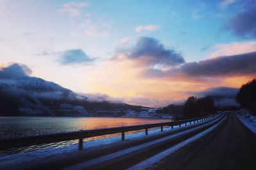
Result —
<instances>
[{"instance_id":1,"label":"snow-dusted dark mountain across the water on the left","mask_svg":"<svg viewBox=\"0 0 256 170\"><path fill-rule=\"evenodd\" d=\"M23 76L0 80L0 115L125 116L147 108L125 103L92 101L51 81Z\"/></svg>"}]
</instances>

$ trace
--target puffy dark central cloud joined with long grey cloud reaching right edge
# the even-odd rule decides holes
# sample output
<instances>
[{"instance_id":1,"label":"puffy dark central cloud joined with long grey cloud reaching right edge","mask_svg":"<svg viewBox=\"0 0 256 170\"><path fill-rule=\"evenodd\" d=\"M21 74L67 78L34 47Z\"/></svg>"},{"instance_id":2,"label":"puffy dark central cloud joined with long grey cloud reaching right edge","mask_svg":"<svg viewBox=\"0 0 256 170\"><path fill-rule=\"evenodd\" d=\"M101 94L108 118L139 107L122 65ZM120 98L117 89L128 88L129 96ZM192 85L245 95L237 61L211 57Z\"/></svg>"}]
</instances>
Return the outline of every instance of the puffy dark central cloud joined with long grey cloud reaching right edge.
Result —
<instances>
[{"instance_id":1,"label":"puffy dark central cloud joined with long grey cloud reaching right edge","mask_svg":"<svg viewBox=\"0 0 256 170\"><path fill-rule=\"evenodd\" d=\"M180 53L148 37L139 38L132 48L116 50L114 59L136 60L138 66L146 68L142 74L148 77L210 78L256 73L256 52L185 62Z\"/></svg>"}]
</instances>

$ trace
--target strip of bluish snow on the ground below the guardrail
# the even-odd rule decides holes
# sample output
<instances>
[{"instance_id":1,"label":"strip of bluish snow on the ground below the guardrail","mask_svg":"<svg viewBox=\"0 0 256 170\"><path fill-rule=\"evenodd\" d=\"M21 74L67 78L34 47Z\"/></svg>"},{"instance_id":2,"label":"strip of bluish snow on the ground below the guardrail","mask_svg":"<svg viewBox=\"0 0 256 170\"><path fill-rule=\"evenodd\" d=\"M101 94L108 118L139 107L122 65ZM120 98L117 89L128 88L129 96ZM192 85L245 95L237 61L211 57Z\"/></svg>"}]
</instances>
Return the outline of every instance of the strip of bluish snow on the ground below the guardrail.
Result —
<instances>
[{"instance_id":1,"label":"strip of bluish snow on the ground below the guardrail","mask_svg":"<svg viewBox=\"0 0 256 170\"><path fill-rule=\"evenodd\" d=\"M214 117L212 117L214 118ZM193 122L192 122L193 124ZM184 127L185 124L182 124L181 127ZM173 129L179 128L179 125L173 126ZM171 127L164 127L164 131L172 131ZM160 128L157 129L148 129L148 135L156 134L157 132L161 132ZM136 132L134 134L126 134L125 140L138 138L141 136L145 136L145 131ZM102 145L108 145L110 143L117 143L121 141L121 136L114 136L110 138L103 139L93 139L92 141L84 141L83 148L84 150L95 148ZM76 152L78 150L78 145L70 145L62 148L51 148L45 150L36 150L33 152L25 152L25 153L15 153L12 155L4 155L0 157L0 169L7 168L9 166L15 166L17 164L26 164L29 162L33 162L35 160L45 159L45 157L51 157L55 155L68 154L72 152Z\"/></svg>"}]
</instances>

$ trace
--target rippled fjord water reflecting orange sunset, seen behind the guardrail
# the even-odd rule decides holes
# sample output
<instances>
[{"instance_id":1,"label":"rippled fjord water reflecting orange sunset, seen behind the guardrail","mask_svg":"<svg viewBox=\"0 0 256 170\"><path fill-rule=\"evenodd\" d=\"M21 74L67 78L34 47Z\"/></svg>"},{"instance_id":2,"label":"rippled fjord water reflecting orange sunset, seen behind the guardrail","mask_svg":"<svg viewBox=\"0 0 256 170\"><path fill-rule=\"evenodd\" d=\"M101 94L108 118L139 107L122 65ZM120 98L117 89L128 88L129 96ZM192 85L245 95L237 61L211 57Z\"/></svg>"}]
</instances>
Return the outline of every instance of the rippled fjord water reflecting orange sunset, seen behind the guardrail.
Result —
<instances>
[{"instance_id":1,"label":"rippled fjord water reflecting orange sunset, seen behind the guardrail","mask_svg":"<svg viewBox=\"0 0 256 170\"><path fill-rule=\"evenodd\" d=\"M166 118L109 118L109 117L0 117L0 136L1 138L13 138L29 135L52 134L58 132L72 132L89 129L101 129L107 127L120 127L128 125L154 124L159 122L170 122ZM97 136L92 139L108 138L120 134ZM28 152L31 150L41 150L68 146L77 141L63 141L47 145L29 146L0 152L6 155L17 152Z\"/></svg>"}]
</instances>

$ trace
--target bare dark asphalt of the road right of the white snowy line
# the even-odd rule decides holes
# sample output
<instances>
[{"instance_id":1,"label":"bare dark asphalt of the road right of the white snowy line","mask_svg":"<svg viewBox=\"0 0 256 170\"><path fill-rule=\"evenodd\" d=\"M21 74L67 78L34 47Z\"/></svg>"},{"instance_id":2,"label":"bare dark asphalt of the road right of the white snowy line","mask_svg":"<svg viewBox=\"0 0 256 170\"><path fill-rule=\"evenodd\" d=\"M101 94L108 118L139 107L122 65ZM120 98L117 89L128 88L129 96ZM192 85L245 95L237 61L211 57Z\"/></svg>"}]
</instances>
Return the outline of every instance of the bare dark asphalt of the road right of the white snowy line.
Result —
<instances>
[{"instance_id":1,"label":"bare dark asphalt of the road right of the white snowy line","mask_svg":"<svg viewBox=\"0 0 256 170\"><path fill-rule=\"evenodd\" d=\"M173 153L148 169L255 169L256 140L234 117L214 134Z\"/></svg>"}]
</instances>

